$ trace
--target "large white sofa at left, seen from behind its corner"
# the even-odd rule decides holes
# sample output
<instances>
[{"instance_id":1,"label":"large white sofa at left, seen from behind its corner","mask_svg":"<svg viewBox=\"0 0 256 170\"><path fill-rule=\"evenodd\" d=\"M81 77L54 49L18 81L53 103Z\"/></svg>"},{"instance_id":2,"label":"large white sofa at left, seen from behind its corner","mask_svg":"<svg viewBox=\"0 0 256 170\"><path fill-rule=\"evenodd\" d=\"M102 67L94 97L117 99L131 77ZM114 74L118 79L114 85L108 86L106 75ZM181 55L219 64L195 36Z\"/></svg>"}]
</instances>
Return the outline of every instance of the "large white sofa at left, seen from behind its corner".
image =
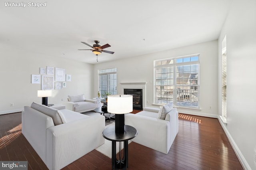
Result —
<instances>
[{"instance_id":1,"label":"large white sofa at left, seen from behind its corner","mask_svg":"<svg viewBox=\"0 0 256 170\"><path fill-rule=\"evenodd\" d=\"M104 144L105 118L38 103L24 106L22 134L47 168L60 170Z\"/></svg>"}]
</instances>

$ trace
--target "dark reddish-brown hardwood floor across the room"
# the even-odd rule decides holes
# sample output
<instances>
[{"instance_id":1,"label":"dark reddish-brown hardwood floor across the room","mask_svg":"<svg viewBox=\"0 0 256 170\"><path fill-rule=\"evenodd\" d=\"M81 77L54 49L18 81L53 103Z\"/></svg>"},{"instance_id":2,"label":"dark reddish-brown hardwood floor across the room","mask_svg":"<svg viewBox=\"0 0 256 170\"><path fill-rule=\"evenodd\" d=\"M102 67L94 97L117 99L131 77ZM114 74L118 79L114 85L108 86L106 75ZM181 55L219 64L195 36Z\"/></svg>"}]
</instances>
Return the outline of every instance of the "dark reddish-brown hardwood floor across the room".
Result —
<instances>
[{"instance_id":1,"label":"dark reddish-brown hardwood floor across the room","mask_svg":"<svg viewBox=\"0 0 256 170\"><path fill-rule=\"evenodd\" d=\"M161 140L161 139L159 139ZM242 170L217 119L179 114L179 132L168 154L135 142L128 147L129 170ZM46 170L21 133L21 113L0 115L0 160L28 160L29 170ZM111 159L96 150L63 170L110 170Z\"/></svg>"}]
</instances>

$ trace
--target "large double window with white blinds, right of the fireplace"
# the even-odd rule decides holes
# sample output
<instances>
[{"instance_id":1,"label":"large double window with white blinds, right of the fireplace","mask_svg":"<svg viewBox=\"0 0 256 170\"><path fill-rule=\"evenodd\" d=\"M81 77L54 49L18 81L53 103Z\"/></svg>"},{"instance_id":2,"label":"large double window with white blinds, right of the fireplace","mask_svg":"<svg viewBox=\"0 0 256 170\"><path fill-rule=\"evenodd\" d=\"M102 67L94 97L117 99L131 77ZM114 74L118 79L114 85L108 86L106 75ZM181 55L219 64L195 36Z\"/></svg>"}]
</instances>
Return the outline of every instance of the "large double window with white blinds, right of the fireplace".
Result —
<instances>
[{"instance_id":1,"label":"large double window with white blinds, right of the fireplace","mask_svg":"<svg viewBox=\"0 0 256 170\"><path fill-rule=\"evenodd\" d=\"M199 108L199 55L154 61L154 103Z\"/></svg>"}]
</instances>

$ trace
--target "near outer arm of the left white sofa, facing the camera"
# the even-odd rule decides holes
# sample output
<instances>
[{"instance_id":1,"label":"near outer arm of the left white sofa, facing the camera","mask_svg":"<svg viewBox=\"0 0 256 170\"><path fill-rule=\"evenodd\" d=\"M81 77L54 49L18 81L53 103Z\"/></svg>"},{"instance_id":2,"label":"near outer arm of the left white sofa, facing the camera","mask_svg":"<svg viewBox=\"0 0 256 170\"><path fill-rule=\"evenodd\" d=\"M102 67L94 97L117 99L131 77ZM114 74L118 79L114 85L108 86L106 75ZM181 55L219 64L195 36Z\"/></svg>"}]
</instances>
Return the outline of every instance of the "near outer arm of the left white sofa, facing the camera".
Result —
<instances>
[{"instance_id":1,"label":"near outer arm of the left white sofa, facing the camera","mask_svg":"<svg viewBox=\"0 0 256 170\"><path fill-rule=\"evenodd\" d=\"M104 144L105 117L94 115L46 130L46 165L61 169Z\"/></svg>"}]
</instances>

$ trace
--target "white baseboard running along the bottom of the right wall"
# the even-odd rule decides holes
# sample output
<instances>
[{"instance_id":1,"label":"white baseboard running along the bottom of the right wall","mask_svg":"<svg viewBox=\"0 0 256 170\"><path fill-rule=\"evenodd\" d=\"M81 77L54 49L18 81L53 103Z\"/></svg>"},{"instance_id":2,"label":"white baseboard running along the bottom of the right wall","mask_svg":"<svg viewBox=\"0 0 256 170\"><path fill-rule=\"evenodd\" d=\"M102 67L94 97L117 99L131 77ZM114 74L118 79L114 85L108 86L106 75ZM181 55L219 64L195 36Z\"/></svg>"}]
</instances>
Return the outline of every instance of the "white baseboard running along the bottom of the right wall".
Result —
<instances>
[{"instance_id":1,"label":"white baseboard running along the bottom of the right wall","mask_svg":"<svg viewBox=\"0 0 256 170\"><path fill-rule=\"evenodd\" d=\"M243 168L245 170L252 170L249 166L249 164L247 163L246 159L244 158L242 152L240 151L240 149L238 148L238 146L236 145L236 142L233 140L232 136L230 135L230 133L228 132L228 129L226 128L225 123L223 123L222 119L220 116L218 116L218 120L220 122L220 125L222 126L224 132L226 133L226 135L228 136L228 140L232 146L232 148L234 149L236 156L238 156L238 159L240 160Z\"/></svg>"}]
</instances>

